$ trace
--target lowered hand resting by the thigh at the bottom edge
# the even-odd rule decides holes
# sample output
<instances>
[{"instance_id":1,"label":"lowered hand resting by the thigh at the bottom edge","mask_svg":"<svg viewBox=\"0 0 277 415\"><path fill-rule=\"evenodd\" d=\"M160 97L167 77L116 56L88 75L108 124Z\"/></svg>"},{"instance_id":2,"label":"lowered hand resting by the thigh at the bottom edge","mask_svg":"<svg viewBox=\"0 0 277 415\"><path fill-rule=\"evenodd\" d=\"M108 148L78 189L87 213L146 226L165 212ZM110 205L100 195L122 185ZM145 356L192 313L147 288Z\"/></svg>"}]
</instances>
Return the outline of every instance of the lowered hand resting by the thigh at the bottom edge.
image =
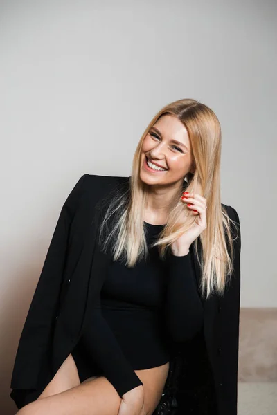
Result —
<instances>
[{"instance_id":1,"label":"lowered hand resting by the thigh at the bottom edge","mask_svg":"<svg viewBox=\"0 0 277 415\"><path fill-rule=\"evenodd\" d=\"M143 385L134 387L122 396L118 415L146 415Z\"/></svg>"}]
</instances>

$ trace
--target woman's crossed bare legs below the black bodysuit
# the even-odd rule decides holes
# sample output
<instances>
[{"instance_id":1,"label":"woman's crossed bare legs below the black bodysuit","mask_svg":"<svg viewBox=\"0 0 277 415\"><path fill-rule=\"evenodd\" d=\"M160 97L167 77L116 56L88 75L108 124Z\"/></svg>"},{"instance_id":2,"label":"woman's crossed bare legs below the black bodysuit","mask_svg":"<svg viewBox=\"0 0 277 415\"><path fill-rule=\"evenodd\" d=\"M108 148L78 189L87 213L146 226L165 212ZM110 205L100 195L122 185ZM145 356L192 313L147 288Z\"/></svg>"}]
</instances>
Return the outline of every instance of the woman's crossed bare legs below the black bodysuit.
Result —
<instances>
[{"instance_id":1,"label":"woman's crossed bare legs below the black bodysuit","mask_svg":"<svg viewBox=\"0 0 277 415\"><path fill-rule=\"evenodd\" d=\"M169 363L145 370L135 370L144 384L145 409L152 414L161 398ZM121 398L104 376L92 376L80 384L78 370L71 355L33 403L17 415L117 415Z\"/></svg>"}]
</instances>

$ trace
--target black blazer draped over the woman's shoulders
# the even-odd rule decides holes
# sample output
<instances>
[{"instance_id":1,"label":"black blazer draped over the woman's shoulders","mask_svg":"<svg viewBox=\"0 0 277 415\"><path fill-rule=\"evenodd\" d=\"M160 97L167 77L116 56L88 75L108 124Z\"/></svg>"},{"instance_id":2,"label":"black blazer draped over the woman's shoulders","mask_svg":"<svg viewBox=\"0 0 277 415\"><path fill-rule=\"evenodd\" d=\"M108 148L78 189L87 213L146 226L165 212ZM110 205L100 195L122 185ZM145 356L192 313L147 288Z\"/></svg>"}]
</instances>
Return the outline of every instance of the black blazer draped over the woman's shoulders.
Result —
<instances>
[{"instance_id":1,"label":"black blazer draped over the woman's shoulders","mask_svg":"<svg viewBox=\"0 0 277 415\"><path fill-rule=\"evenodd\" d=\"M129 185L129 177L84 174L62 207L12 371L10 396L18 408L32 401L35 390L46 387L80 338L89 306L100 292L107 266L96 243L98 225L105 210L101 201L117 186L125 185ZM223 206L240 229L235 209ZM208 300L202 299L203 337L198 340L202 348L192 347L190 356L186 356L188 344L178 346L179 353L184 353L184 362L191 362L191 365L184 364L181 368L181 377L188 380L188 388L190 384L194 385L193 395L186 395L185 389L181 391L190 414L237 414L240 232L234 246L234 273L224 297L212 295ZM194 244L190 248L199 286L200 270ZM199 356L199 350L203 350L202 356ZM211 376L205 371L199 373L202 368L199 362L204 362L205 356ZM212 389L208 388L211 380ZM198 393L200 390L205 396ZM213 411L209 411L208 406L205 409L204 403L200 402L202 398L207 402L211 400L211 396L206 394L214 394L216 409ZM192 396L190 400L189 396ZM178 415L183 413L180 410Z\"/></svg>"}]
</instances>

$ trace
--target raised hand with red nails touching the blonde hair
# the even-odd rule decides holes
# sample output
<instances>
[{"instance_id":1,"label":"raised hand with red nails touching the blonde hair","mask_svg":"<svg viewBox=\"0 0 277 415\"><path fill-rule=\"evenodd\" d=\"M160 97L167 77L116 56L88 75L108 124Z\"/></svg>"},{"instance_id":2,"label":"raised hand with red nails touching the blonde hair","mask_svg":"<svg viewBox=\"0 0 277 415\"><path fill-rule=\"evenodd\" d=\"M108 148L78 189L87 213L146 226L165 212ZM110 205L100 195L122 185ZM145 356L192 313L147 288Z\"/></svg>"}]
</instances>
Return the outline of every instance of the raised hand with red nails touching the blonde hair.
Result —
<instances>
[{"instance_id":1,"label":"raised hand with red nails touching the blonde hair","mask_svg":"<svg viewBox=\"0 0 277 415\"><path fill-rule=\"evenodd\" d=\"M197 221L195 221L192 228L181 234L181 237L171 244L172 252L179 256L188 254L190 245L207 227L206 199L197 193L183 192L181 201L188 203L186 208L192 210L193 214L197 215Z\"/></svg>"}]
</instances>

